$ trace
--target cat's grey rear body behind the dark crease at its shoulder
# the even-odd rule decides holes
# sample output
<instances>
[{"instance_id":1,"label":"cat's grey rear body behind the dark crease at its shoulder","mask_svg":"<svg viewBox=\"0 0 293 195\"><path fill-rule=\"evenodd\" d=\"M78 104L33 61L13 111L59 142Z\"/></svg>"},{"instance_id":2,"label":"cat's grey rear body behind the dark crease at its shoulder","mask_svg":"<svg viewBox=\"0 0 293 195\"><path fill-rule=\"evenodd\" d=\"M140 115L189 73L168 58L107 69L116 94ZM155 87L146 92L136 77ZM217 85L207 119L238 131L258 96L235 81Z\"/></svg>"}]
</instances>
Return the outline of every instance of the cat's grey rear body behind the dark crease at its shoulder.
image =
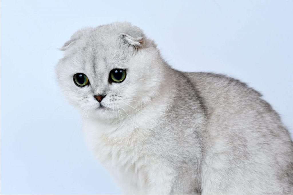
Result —
<instances>
[{"instance_id":1,"label":"cat's grey rear body behind the dark crease at its shoulder","mask_svg":"<svg viewBox=\"0 0 293 195\"><path fill-rule=\"evenodd\" d=\"M293 144L261 94L224 75L185 75L207 110L203 193L292 193Z\"/></svg>"}]
</instances>

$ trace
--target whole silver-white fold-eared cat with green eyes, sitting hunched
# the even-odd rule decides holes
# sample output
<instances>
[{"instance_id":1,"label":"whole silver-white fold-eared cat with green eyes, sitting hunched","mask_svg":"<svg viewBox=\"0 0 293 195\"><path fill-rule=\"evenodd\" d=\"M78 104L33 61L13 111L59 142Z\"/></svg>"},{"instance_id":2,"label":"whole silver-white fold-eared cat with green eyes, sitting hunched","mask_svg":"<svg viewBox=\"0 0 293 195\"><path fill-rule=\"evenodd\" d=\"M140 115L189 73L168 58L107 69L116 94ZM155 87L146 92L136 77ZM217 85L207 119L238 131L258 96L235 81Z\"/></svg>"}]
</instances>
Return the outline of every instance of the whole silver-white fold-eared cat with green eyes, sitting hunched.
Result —
<instances>
[{"instance_id":1,"label":"whole silver-white fold-eared cat with green eyes, sitting hunched","mask_svg":"<svg viewBox=\"0 0 293 195\"><path fill-rule=\"evenodd\" d=\"M62 50L59 85L125 193L293 193L290 135L246 84L174 70L130 23L81 29Z\"/></svg>"}]
</instances>

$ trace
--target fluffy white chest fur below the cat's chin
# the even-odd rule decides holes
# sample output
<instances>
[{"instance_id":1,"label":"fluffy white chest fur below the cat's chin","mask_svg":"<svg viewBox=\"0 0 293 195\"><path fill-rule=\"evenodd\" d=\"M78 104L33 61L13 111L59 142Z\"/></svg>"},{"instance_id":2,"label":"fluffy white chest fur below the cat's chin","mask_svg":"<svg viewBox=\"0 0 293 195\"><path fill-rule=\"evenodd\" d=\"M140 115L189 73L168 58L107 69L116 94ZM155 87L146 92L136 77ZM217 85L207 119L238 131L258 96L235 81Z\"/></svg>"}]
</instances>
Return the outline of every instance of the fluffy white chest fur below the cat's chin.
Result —
<instances>
[{"instance_id":1,"label":"fluffy white chest fur below the cat's chin","mask_svg":"<svg viewBox=\"0 0 293 195\"><path fill-rule=\"evenodd\" d=\"M83 129L89 148L125 193L170 194L173 170L147 143L149 132L146 128L91 120Z\"/></svg>"}]
</instances>

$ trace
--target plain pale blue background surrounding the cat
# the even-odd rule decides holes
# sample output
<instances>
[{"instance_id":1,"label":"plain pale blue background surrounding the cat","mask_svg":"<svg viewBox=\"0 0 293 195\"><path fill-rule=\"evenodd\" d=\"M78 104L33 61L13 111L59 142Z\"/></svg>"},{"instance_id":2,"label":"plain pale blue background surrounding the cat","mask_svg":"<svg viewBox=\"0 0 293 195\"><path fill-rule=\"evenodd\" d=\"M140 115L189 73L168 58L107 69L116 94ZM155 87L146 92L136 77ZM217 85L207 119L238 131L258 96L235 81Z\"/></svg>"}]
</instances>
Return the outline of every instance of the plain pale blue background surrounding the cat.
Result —
<instances>
[{"instance_id":1,"label":"plain pale blue background surrounding the cat","mask_svg":"<svg viewBox=\"0 0 293 195\"><path fill-rule=\"evenodd\" d=\"M57 48L130 21L174 68L236 77L293 130L293 1L1 1L1 194L116 194L62 96Z\"/></svg>"}]
</instances>

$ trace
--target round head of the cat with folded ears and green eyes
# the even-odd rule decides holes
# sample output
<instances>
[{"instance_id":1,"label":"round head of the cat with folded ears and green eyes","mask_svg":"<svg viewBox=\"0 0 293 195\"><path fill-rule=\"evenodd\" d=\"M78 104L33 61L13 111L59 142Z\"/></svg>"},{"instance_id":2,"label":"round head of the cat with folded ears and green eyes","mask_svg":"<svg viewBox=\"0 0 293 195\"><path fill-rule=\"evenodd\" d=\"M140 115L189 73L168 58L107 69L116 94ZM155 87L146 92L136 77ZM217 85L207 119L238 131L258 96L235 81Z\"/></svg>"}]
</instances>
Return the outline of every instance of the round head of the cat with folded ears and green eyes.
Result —
<instances>
[{"instance_id":1,"label":"round head of the cat with folded ears and green eyes","mask_svg":"<svg viewBox=\"0 0 293 195\"><path fill-rule=\"evenodd\" d=\"M154 42L130 23L81 29L61 50L59 85L74 106L94 117L117 118L118 108L125 115L159 94L166 65Z\"/></svg>"}]
</instances>

